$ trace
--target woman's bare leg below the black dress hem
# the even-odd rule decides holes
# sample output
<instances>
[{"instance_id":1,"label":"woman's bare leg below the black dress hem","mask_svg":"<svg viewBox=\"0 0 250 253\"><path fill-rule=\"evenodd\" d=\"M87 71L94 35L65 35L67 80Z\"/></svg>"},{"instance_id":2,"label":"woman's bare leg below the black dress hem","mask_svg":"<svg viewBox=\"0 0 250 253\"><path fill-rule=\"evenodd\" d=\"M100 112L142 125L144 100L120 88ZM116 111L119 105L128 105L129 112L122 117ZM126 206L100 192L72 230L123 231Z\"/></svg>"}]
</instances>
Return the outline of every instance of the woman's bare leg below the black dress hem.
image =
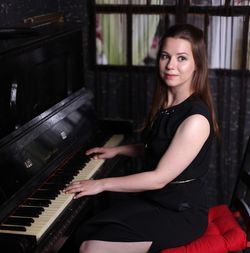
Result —
<instances>
[{"instance_id":1,"label":"woman's bare leg below the black dress hem","mask_svg":"<svg viewBox=\"0 0 250 253\"><path fill-rule=\"evenodd\" d=\"M108 242L89 240L81 244L80 253L147 253L152 242Z\"/></svg>"}]
</instances>

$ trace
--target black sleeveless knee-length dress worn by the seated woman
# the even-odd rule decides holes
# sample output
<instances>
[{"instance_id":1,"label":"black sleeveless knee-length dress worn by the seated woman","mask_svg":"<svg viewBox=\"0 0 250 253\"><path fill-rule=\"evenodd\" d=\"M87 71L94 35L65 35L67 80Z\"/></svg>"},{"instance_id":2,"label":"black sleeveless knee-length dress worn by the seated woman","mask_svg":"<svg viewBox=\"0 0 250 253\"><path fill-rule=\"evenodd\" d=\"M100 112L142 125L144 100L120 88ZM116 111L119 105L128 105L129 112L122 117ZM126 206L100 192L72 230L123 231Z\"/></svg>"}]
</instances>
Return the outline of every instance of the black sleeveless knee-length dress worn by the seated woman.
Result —
<instances>
[{"instance_id":1,"label":"black sleeveless knee-length dress worn by the seated woman","mask_svg":"<svg viewBox=\"0 0 250 253\"><path fill-rule=\"evenodd\" d=\"M77 247L85 240L151 241L150 253L185 245L207 227L203 178L208 169L212 141L207 106L191 95L182 103L160 109L145 139L145 171L154 169L184 119L201 114L210 123L210 135L192 163L164 188L133 195L79 226ZM192 145L192 143L190 143Z\"/></svg>"}]
</instances>

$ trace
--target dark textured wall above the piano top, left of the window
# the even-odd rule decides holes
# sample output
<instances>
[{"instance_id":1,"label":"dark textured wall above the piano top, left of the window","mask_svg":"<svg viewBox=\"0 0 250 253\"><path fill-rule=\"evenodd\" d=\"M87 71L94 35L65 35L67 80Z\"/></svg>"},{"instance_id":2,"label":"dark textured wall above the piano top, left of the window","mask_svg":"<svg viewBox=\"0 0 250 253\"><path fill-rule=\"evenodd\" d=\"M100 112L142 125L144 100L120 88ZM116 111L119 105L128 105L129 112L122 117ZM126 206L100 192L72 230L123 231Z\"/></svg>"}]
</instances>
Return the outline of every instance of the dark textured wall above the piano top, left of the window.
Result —
<instances>
[{"instance_id":1,"label":"dark textured wall above the piano top, left of the window","mask_svg":"<svg viewBox=\"0 0 250 253\"><path fill-rule=\"evenodd\" d=\"M66 22L82 23L83 29L83 62L85 85L91 87L92 73L88 72L88 34L89 11L91 0L1 0L0 26L15 26L23 23L23 19L30 16L51 12L63 12Z\"/></svg>"}]
</instances>

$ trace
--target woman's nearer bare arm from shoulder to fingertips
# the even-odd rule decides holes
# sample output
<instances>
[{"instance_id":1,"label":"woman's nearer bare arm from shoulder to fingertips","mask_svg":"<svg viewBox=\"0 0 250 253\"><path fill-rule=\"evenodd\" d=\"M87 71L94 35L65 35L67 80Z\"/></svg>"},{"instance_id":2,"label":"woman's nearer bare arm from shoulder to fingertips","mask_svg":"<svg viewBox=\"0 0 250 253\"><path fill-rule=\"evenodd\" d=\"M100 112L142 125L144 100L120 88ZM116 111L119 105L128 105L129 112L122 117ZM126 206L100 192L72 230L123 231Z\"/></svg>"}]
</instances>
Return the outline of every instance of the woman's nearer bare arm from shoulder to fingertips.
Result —
<instances>
[{"instance_id":1,"label":"woman's nearer bare arm from shoulder to fingertips","mask_svg":"<svg viewBox=\"0 0 250 253\"><path fill-rule=\"evenodd\" d=\"M74 193L75 198L79 198L102 191L141 192L160 189L187 168L201 150L209 132L208 120L202 115L192 115L179 126L155 170L123 177L73 182L66 188L66 192Z\"/></svg>"}]
</instances>

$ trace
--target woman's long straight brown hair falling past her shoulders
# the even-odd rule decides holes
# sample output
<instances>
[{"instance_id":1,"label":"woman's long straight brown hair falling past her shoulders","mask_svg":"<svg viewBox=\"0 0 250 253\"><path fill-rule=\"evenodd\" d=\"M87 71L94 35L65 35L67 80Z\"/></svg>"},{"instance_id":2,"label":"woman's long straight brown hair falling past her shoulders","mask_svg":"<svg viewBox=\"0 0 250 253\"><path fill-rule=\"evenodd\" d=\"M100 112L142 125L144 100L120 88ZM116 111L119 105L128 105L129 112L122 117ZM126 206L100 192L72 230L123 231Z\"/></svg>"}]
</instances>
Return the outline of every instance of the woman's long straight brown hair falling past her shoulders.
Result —
<instances>
[{"instance_id":1,"label":"woman's long straight brown hair falling past her shoulders","mask_svg":"<svg viewBox=\"0 0 250 253\"><path fill-rule=\"evenodd\" d=\"M212 95L210 91L210 86L208 82L208 64L207 64L207 51L206 45L204 42L204 36L202 30L199 28L190 25L190 24L181 24L171 26L164 36L162 37L159 50L157 54L157 84L154 91L152 108L149 112L148 120L146 125L150 125L153 121L153 118L156 112L159 110L161 106L163 106L164 102L168 100L167 92L168 86L163 82L159 74L159 61L162 48L167 38L179 38L184 39L190 42L192 53L195 62L195 72L192 80L192 90L194 94L200 97L204 103L208 106L209 111L212 115L212 123L213 129L216 135L219 134L219 127L216 120L215 109L213 105Z\"/></svg>"}]
</instances>

